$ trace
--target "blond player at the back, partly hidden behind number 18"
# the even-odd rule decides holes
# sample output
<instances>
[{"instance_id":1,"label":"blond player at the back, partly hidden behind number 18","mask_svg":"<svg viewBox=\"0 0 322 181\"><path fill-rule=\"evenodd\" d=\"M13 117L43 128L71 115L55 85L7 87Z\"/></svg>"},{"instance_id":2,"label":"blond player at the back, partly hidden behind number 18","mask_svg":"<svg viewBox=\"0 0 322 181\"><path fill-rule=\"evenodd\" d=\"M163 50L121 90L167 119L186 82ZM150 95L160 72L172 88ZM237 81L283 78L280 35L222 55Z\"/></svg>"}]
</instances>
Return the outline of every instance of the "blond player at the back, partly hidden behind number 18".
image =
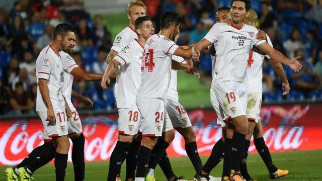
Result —
<instances>
[{"instance_id":1,"label":"blond player at the back, partly hidden behind number 18","mask_svg":"<svg viewBox=\"0 0 322 181\"><path fill-rule=\"evenodd\" d=\"M134 30L135 20L139 17L145 16L146 6L139 0L132 0L127 5L127 18L129 19L130 25L124 28L119 34L116 35L111 48L110 53L108 54L106 61L107 63L112 62L115 56L129 43L131 43L135 38L137 39L137 34ZM105 70L106 72L106 70ZM119 68L114 69L116 74L119 74ZM106 73L105 73L106 74ZM108 77L103 77L102 81L107 81ZM115 83L114 86L114 95L115 99L118 98L118 83ZM132 142L131 148L129 149L128 155L126 156L126 180L134 180L135 178L135 167L136 167L136 155L138 148L141 144L141 137L136 135ZM121 154L121 153L120 153Z\"/></svg>"}]
</instances>

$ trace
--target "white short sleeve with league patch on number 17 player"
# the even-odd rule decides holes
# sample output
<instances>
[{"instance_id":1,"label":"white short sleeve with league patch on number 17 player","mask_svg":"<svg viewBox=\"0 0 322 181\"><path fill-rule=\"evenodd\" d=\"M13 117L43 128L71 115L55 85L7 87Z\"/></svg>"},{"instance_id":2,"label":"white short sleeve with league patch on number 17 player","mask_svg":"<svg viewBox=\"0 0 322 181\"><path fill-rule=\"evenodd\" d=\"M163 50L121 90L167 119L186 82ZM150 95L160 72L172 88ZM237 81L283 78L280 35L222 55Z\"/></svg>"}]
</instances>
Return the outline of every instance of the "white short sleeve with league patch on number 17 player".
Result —
<instances>
[{"instance_id":1,"label":"white short sleeve with league patch on number 17 player","mask_svg":"<svg viewBox=\"0 0 322 181\"><path fill-rule=\"evenodd\" d=\"M39 61L36 61L36 73L39 78L43 78L48 80L49 75L51 73L54 58L49 55L45 54L42 57L39 58Z\"/></svg>"}]
</instances>

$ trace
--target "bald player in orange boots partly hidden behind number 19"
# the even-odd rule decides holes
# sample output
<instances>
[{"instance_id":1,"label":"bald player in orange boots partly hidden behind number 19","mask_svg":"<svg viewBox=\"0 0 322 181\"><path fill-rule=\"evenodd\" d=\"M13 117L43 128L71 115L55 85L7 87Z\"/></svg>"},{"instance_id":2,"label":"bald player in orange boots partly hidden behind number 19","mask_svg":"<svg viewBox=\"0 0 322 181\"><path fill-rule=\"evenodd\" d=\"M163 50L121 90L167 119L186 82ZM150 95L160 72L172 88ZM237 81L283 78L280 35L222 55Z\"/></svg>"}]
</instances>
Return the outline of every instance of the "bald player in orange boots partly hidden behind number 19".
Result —
<instances>
[{"instance_id":1,"label":"bald player in orange boots partly hidden behind number 19","mask_svg":"<svg viewBox=\"0 0 322 181\"><path fill-rule=\"evenodd\" d=\"M250 26L256 27L256 21L257 21L257 13L251 9L245 23ZM267 36L267 42L269 43L269 45L273 47L272 42L268 36ZM246 89L247 89L248 101L247 101L246 116L249 121L249 126L246 134L244 153L245 153L245 157L247 158L248 148L250 146L251 138L254 133L255 147L258 153L261 155L265 165L267 166L267 169L269 170L270 178L274 179L274 178L279 178L287 175L288 170L278 169L273 164L270 151L266 146L265 140L263 138L263 126L260 118L260 110L261 110L262 92L263 92L262 91L262 77L263 77L262 65L263 65L264 57L265 55L261 55L257 52L251 51L250 57L248 59L247 78L246 78L247 79ZM282 88L285 89L285 92L283 93L283 95L287 95L289 93L290 86L285 76L282 64L278 63L274 59L271 59L268 55L266 55L266 57L270 60L276 73L282 78L283 80ZM254 129L256 131L254 131ZM247 180L251 179L251 177L247 173L247 170L243 171L243 169L241 169L241 174L243 174L243 176Z\"/></svg>"}]
</instances>

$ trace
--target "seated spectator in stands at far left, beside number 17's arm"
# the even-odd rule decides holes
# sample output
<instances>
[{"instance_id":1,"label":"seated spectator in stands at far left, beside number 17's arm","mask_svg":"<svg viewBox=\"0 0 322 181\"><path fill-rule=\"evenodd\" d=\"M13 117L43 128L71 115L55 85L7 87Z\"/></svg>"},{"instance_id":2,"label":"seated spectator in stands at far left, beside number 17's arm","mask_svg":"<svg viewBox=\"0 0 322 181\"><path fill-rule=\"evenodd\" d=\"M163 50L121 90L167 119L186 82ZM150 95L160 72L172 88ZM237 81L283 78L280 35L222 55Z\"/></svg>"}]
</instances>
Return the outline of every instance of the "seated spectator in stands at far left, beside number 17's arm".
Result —
<instances>
[{"instance_id":1,"label":"seated spectator in stands at far left, beside number 17's arm","mask_svg":"<svg viewBox=\"0 0 322 181\"><path fill-rule=\"evenodd\" d=\"M15 85L15 91L10 96L10 105L12 111L8 114L21 115L34 113L34 104L30 98L28 92L24 91L23 83L17 82Z\"/></svg>"}]
</instances>

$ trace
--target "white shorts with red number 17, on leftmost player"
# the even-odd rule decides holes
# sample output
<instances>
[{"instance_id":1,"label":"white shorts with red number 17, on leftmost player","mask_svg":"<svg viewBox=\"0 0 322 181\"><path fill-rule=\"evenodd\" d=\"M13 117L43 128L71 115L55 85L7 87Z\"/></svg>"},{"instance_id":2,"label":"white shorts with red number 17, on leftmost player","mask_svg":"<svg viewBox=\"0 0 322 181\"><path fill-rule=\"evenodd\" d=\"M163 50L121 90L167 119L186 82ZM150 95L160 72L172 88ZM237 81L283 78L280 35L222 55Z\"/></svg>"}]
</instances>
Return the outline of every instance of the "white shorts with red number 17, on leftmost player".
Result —
<instances>
[{"instance_id":1,"label":"white shorts with red number 17, on leftmost player","mask_svg":"<svg viewBox=\"0 0 322 181\"><path fill-rule=\"evenodd\" d=\"M64 111L55 112L55 125L49 125L49 121L47 119L47 112L37 112L42 125L44 126L45 132L49 138L68 135L68 125L67 125L67 116Z\"/></svg>"}]
</instances>

